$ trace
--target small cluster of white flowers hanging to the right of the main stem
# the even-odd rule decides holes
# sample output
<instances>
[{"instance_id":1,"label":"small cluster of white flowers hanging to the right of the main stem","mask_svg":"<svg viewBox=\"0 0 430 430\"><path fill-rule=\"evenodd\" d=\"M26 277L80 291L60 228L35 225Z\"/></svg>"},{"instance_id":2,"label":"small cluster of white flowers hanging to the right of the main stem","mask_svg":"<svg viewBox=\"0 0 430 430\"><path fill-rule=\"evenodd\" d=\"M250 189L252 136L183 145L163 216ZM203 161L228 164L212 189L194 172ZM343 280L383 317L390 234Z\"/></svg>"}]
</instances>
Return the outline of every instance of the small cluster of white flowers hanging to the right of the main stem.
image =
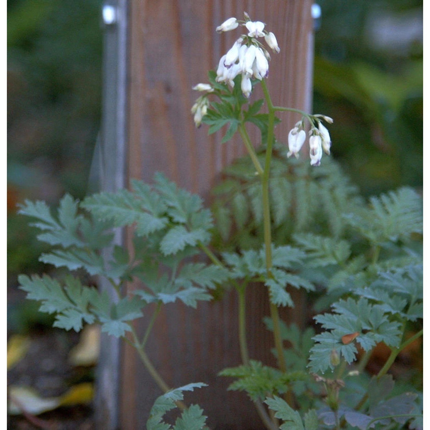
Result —
<instances>
[{"instance_id":1,"label":"small cluster of white flowers hanging to the right of the main stem","mask_svg":"<svg viewBox=\"0 0 430 430\"><path fill-rule=\"evenodd\" d=\"M332 141L330 139L329 130L321 122L321 119L329 124L333 123L332 118L325 115L313 115L313 127L309 131L309 156L312 166L319 166L322 158L322 152L330 154ZM318 127L318 128L317 128ZM306 140L306 132L304 131L303 120L299 121L288 134L288 153L287 157L294 155L298 158L298 152Z\"/></svg>"}]
</instances>

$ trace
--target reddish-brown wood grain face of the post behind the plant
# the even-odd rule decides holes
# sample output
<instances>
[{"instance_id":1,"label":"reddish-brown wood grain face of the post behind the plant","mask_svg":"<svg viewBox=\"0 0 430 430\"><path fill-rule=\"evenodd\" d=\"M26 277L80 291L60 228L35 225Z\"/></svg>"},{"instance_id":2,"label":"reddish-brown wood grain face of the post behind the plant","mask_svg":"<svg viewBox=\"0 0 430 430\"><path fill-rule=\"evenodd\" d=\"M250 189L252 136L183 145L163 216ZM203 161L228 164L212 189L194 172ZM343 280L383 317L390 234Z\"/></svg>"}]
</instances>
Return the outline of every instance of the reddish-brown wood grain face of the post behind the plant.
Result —
<instances>
[{"instance_id":1,"label":"reddish-brown wood grain face of the post behind the plant","mask_svg":"<svg viewBox=\"0 0 430 430\"><path fill-rule=\"evenodd\" d=\"M195 129L190 108L197 98L191 87L206 82L209 69L240 35L216 34L215 28L230 16L267 23L276 34L281 52L271 54L267 84L278 105L310 111L312 81L312 19L308 0L198 1L135 0L130 2L129 55L129 178L151 182L154 172L209 200L210 188L221 169L244 154L235 138L219 144L220 133L207 135ZM252 94L256 100L261 92ZM300 117L283 114L276 137L286 141ZM249 133L258 145L259 132ZM129 289L135 286L129 285ZM252 358L273 364L272 338L264 330L267 295L261 287L247 297L249 347ZM295 318L300 318L301 306ZM145 312L149 319L151 313ZM138 324L144 332L148 319ZM209 416L212 429L261 429L252 403L243 393L227 392L230 381L216 373L240 364L237 342L237 298L228 293L222 301L199 304L197 310L167 305L160 313L147 344L147 353L171 387L205 382L209 387L187 396ZM123 349L121 429L145 428L154 399L160 395L134 352Z\"/></svg>"}]
</instances>

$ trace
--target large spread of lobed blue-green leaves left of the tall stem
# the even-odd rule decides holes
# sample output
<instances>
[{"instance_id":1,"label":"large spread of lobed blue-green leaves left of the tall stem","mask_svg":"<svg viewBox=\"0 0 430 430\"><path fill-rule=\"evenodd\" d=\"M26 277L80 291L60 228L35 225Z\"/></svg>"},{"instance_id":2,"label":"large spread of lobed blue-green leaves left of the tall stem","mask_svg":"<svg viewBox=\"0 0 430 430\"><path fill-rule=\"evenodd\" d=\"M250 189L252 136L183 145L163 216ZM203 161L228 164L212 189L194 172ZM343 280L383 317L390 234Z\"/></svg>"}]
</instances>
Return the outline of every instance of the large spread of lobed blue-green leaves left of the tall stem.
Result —
<instances>
[{"instance_id":1,"label":"large spread of lobed blue-green leaves left of the tall stem","mask_svg":"<svg viewBox=\"0 0 430 430\"><path fill-rule=\"evenodd\" d=\"M196 307L200 300L211 300L209 290L227 279L223 267L190 261L198 245L211 237L211 213L200 197L161 174L152 186L139 181L132 186L132 191L95 194L82 203L66 195L56 216L43 202L21 206L20 213L37 220L33 225L41 230L39 240L53 246L41 261L104 276L118 292L123 281L144 283L132 297L119 296L112 303L107 292L83 286L78 277L20 276L28 298L41 301L41 311L56 314L55 326L78 331L83 322L99 322L104 332L120 337L148 303L180 300ZM111 246L112 229L126 226L135 232L133 257L125 248Z\"/></svg>"}]
</instances>

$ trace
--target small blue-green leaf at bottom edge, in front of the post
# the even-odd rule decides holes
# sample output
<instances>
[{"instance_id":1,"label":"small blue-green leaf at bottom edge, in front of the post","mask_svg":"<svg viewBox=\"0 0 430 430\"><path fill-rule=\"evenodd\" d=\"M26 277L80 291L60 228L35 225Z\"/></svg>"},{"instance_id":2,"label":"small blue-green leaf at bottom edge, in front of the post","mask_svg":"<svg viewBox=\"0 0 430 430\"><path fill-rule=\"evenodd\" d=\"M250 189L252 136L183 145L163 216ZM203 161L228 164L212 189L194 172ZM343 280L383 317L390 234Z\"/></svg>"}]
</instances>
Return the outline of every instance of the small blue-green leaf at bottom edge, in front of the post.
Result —
<instances>
[{"instance_id":1,"label":"small blue-green leaf at bottom edge, in front of the post","mask_svg":"<svg viewBox=\"0 0 430 430\"><path fill-rule=\"evenodd\" d=\"M184 399L183 391L194 391L194 388L200 387L206 387L206 384L201 382L187 384L158 397L151 408L146 423L147 430L200 430L204 428L206 416L203 415L203 409L198 405L190 405L189 408L182 411L173 426L163 421L164 414L176 408L176 402Z\"/></svg>"}]
</instances>

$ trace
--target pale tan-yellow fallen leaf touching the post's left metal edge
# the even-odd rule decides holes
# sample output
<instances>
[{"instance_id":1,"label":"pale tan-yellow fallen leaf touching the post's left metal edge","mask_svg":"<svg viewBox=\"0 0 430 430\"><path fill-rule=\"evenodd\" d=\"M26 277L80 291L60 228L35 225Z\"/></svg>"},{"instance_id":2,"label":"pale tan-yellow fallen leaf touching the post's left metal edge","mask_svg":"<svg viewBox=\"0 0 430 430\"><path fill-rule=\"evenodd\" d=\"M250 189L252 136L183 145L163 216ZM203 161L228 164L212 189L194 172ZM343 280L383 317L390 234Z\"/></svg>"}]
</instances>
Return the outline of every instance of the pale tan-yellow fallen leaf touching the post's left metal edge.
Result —
<instances>
[{"instance_id":1,"label":"pale tan-yellow fallen leaf touching the post's left metal edge","mask_svg":"<svg viewBox=\"0 0 430 430\"><path fill-rule=\"evenodd\" d=\"M100 327L86 326L80 335L79 343L71 349L69 362L74 366L96 364L100 352Z\"/></svg>"}]
</instances>

